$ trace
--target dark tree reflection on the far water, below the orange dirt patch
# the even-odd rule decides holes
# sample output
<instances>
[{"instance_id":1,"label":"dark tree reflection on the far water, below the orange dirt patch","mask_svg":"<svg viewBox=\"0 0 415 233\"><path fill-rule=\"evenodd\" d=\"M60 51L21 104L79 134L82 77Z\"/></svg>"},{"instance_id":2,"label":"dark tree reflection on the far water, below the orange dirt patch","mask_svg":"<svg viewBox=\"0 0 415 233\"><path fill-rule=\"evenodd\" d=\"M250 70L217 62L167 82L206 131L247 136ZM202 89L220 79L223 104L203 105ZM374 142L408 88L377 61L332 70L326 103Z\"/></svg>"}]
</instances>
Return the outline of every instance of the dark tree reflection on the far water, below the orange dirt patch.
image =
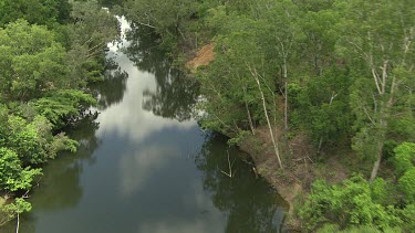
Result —
<instances>
[{"instance_id":1,"label":"dark tree reflection on the far water, below the orange dirt patch","mask_svg":"<svg viewBox=\"0 0 415 233\"><path fill-rule=\"evenodd\" d=\"M172 67L172 61L157 44L157 35L146 28L135 28L128 33L132 44L126 54L134 64L155 74L156 89L144 89L143 109L156 116L189 120L199 95L199 84Z\"/></svg>"}]
</instances>

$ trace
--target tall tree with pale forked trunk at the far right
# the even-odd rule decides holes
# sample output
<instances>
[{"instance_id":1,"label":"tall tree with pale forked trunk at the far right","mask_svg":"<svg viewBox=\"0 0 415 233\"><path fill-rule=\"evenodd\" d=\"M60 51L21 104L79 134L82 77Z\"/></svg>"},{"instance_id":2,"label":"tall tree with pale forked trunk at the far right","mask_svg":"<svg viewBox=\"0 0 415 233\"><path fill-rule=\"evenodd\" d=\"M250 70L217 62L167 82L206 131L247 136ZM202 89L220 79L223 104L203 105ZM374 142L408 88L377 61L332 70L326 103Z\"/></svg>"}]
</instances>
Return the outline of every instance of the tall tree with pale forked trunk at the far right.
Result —
<instances>
[{"instance_id":1,"label":"tall tree with pale forked trunk at the far right","mask_svg":"<svg viewBox=\"0 0 415 233\"><path fill-rule=\"evenodd\" d=\"M391 117L400 112L398 99L411 95L415 82L414 6L406 0L354 0L340 1L339 7L344 18L339 52L357 71L352 89L352 107L357 118L353 148L375 160L370 178L373 181L381 166Z\"/></svg>"}]
</instances>

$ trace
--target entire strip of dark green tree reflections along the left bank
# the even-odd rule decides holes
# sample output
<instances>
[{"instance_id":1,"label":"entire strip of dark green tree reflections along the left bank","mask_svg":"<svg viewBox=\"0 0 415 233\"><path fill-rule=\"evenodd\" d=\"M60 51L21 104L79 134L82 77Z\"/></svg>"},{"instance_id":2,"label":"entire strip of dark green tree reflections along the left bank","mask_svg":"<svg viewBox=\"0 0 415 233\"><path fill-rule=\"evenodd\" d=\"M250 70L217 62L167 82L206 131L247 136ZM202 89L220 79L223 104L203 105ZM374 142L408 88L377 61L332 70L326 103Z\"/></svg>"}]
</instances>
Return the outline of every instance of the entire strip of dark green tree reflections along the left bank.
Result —
<instances>
[{"instance_id":1,"label":"entire strip of dark green tree reflections along the left bank","mask_svg":"<svg viewBox=\"0 0 415 233\"><path fill-rule=\"evenodd\" d=\"M121 71L118 64L108 60L105 78L101 83L90 86L92 93L97 97L97 109L104 110L113 104L120 103L126 91L128 75ZM65 129L66 135L76 140L80 146L76 155L61 152L59 158L49 161L44 166L37 184L34 186L30 202L37 211L62 211L75 206L82 199L82 186L80 182L83 172L83 163L93 165L96 158L92 157L100 147L96 130L100 124L95 121L96 116L90 114L81 119L75 126ZM35 232L35 216L31 212L21 218L20 232ZM0 229L0 232L14 232L14 223Z\"/></svg>"}]
</instances>

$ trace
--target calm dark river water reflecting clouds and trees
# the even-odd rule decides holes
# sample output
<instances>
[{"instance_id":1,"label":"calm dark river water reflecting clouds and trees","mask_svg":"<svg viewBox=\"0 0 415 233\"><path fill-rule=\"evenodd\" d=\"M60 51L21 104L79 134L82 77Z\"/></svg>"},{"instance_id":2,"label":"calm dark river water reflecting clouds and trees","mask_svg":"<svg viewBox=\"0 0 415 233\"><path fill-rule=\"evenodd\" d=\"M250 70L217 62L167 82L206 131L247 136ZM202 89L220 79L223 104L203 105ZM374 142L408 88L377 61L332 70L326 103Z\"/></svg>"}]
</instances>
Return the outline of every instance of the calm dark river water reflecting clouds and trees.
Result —
<instances>
[{"instance_id":1,"label":"calm dark river water reflecting clouds and trees","mask_svg":"<svg viewBox=\"0 0 415 233\"><path fill-rule=\"evenodd\" d=\"M20 232L281 231L283 201L191 118L197 83L170 68L148 32L129 40L111 49L120 67L94 87L101 114L70 130L79 152L44 168ZM227 151L234 178L222 173Z\"/></svg>"}]
</instances>

